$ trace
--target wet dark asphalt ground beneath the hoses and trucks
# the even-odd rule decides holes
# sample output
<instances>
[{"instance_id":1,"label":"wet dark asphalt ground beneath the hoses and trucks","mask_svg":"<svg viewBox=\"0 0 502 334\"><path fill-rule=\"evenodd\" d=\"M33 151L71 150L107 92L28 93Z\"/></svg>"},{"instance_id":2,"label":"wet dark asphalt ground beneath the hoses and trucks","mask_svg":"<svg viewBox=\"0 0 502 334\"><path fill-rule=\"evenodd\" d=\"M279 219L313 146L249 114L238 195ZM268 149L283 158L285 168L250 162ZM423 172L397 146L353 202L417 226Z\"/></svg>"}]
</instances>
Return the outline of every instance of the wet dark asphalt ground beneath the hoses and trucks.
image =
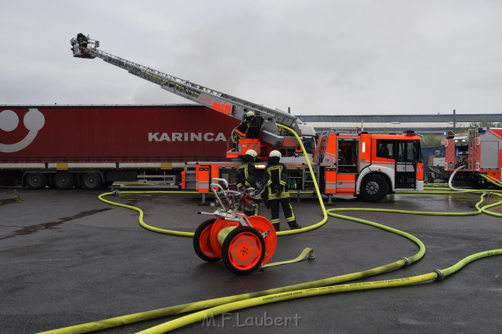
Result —
<instances>
[{"instance_id":1,"label":"wet dark asphalt ground beneath the hoses and trucks","mask_svg":"<svg viewBox=\"0 0 502 334\"><path fill-rule=\"evenodd\" d=\"M378 228L330 217L315 230L281 236L271 262L292 259L305 247L316 258L246 276L221 261L199 259L188 237L149 231L138 213L98 200L105 191L32 191L0 205L0 332L34 333L187 302L260 291L358 272L411 257L418 246ZM8 189L9 190L9 189ZM12 190L12 189L10 189ZM131 189L127 189L131 190ZM144 190L144 189L141 189ZM148 189L153 190L153 189ZM214 207L196 194L109 196L141 208L146 223L193 232ZM209 198L208 198L209 200ZM336 197L333 206L413 211L474 211L479 195L392 195L378 204ZM496 201L489 197L485 203ZM322 220L315 198L292 201L303 226ZM262 210L264 210L262 204ZM492 211L500 212L501 208ZM484 250L502 248L502 218L346 212L408 232L426 254L408 267L367 277L376 281L447 268ZM270 212L263 213L270 218ZM284 221L282 228L286 228ZM300 298L216 316L175 332L223 333L500 333L502 256L476 260L442 281ZM358 282L358 281L356 281ZM133 333L169 316L103 330ZM284 325L286 317L290 317ZM270 324L278 318L280 325Z\"/></svg>"}]
</instances>

